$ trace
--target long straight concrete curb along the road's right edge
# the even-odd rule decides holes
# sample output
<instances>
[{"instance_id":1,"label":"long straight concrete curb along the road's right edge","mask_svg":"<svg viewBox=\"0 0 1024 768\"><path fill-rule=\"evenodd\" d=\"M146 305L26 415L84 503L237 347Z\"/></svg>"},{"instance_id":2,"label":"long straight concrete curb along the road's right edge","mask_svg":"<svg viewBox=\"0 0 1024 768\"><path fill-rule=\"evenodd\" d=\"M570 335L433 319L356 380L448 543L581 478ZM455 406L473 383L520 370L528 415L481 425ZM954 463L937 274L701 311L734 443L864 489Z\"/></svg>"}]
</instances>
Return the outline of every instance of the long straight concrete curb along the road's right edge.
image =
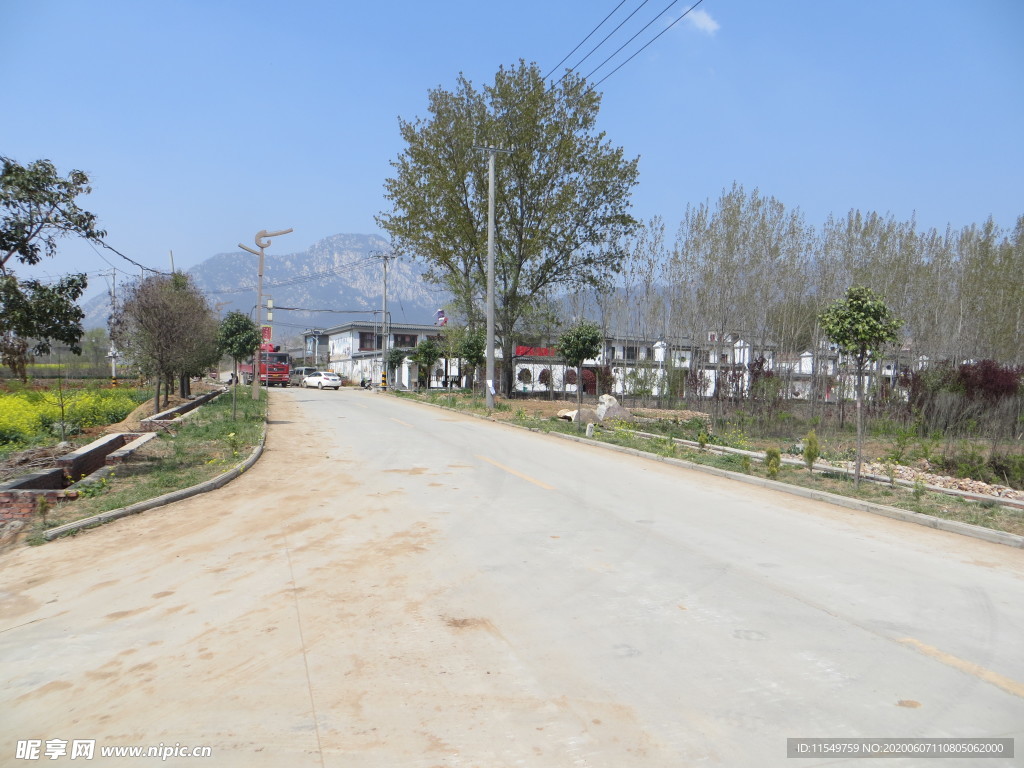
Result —
<instances>
[{"instance_id":1,"label":"long straight concrete curb along the road's right edge","mask_svg":"<svg viewBox=\"0 0 1024 768\"><path fill-rule=\"evenodd\" d=\"M516 429L525 429L530 432L539 432L540 430L532 429L530 427L523 427L519 424L513 424L511 422L498 421L492 419L489 416L482 414L473 414L466 411L459 411L458 409L449 408L447 406L439 406L433 402L423 402L422 400L414 400L410 398L408 401L417 402L421 406L429 406L431 408L438 408L442 411L452 411L457 414L462 414L463 416L471 416L475 419L483 419L484 421L489 421L495 424L502 424L507 427L514 427ZM1016 547L1017 549L1024 549L1024 536L1017 536L1016 534L1007 534L1002 530L994 530L992 528L986 528L981 525L972 525L967 522L959 522L957 520L946 520L941 517L933 517L932 515L925 515L919 512L909 512L905 509L899 509L898 507L888 507L884 504L874 504L873 502L865 502L860 499L852 499L848 496L839 496L838 494L829 494L826 490L815 490L813 488L805 488L801 485L790 485L785 482L779 482L778 480L769 480L764 477L753 477L752 475L745 475L742 472L730 472L727 469L719 469L718 467L709 467L705 464L693 464L692 462L684 461L683 459L672 459L667 456L658 456L657 454L650 454L645 451L638 451L637 449L625 447L623 445L615 445L610 442L601 442L600 440L588 439L586 437L578 437L577 435L565 434L563 432L545 432L554 437L561 438L563 440L571 440L573 442L581 442L586 445L594 445L596 447L607 449L609 451L617 451L621 454L629 454L630 456L636 456L641 459L652 459L654 461L659 461L665 464L671 464L675 467L680 467L682 469L692 469L697 472L705 472L707 474L716 475L718 477L725 477L730 480L738 480L739 482L745 482L749 485L760 485L761 487L771 488L772 490L780 490L783 494L791 494L793 496L803 497L804 499L811 499L818 502L826 502L828 504L834 504L838 507L846 507L847 509L855 509L860 512L868 512L874 515L882 515L883 517L889 517L894 520L902 520L903 522L910 522L915 525L924 525L929 528L936 528L937 530L945 530L950 534L959 534L961 536L969 536L974 539L981 539L985 542L991 542L992 544L1001 544L1006 547Z\"/></svg>"}]
</instances>

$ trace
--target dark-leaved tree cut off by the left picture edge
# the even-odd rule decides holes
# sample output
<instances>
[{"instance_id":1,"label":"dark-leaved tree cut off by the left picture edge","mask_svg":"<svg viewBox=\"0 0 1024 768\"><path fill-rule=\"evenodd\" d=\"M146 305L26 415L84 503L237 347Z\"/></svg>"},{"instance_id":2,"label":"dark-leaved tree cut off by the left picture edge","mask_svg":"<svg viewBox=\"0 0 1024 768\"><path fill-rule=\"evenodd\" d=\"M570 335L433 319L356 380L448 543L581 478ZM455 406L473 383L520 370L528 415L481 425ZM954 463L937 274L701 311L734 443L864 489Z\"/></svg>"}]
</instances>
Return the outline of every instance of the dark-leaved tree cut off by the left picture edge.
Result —
<instances>
[{"instance_id":1,"label":"dark-leaved tree cut off by the left picture edge","mask_svg":"<svg viewBox=\"0 0 1024 768\"><path fill-rule=\"evenodd\" d=\"M75 202L92 191L85 173L72 171L63 178L48 160L27 166L9 158L0 162L0 359L24 381L30 348L45 354L57 341L81 353L85 315L75 302L87 281L85 274L65 275L51 285L19 281L12 261L38 264L56 253L61 238L102 244L106 233Z\"/></svg>"}]
</instances>

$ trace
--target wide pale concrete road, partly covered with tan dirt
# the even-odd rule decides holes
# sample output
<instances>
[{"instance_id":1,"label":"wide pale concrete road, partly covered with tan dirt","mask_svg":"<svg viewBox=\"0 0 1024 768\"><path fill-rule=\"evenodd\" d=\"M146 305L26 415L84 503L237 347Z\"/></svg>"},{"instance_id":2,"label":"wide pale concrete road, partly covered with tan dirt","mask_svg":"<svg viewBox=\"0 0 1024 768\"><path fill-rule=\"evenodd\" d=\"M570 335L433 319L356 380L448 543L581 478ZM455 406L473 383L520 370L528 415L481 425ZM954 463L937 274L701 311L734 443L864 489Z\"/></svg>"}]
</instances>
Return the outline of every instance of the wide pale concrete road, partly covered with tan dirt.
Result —
<instances>
[{"instance_id":1,"label":"wide pale concrete road, partly covered with tan dirt","mask_svg":"<svg viewBox=\"0 0 1024 768\"><path fill-rule=\"evenodd\" d=\"M0 765L28 739L289 768L1024 751L1019 550L365 391L271 402L227 487L0 558ZM174 744L212 756L100 754ZM979 764L1024 758L938 765Z\"/></svg>"}]
</instances>

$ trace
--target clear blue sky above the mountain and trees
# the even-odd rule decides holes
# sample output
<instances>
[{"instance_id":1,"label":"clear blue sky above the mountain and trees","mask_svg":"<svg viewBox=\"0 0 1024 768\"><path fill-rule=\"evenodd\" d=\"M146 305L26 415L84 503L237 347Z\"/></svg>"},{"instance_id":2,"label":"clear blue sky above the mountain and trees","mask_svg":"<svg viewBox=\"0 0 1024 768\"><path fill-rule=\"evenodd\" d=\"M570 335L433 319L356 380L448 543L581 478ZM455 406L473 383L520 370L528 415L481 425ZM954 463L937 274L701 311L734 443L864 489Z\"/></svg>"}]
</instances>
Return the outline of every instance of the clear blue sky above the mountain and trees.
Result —
<instances>
[{"instance_id":1,"label":"clear blue sky above the mountain and trees","mask_svg":"<svg viewBox=\"0 0 1024 768\"><path fill-rule=\"evenodd\" d=\"M648 2L580 72L660 16L599 80L691 1ZM377 232L399 116L460 72L547 72L616 4L0 0L0 154L87 171L108 241L158 268L264 228L295 229L268 256ZM640 157L634 214L670 231L733 181L814 225L852 208L922 228L1024 214L1020 0L705 0L599 89L599 127ZM106 262L65 241L45 271Z\"/></svg>"}]
</instances>

